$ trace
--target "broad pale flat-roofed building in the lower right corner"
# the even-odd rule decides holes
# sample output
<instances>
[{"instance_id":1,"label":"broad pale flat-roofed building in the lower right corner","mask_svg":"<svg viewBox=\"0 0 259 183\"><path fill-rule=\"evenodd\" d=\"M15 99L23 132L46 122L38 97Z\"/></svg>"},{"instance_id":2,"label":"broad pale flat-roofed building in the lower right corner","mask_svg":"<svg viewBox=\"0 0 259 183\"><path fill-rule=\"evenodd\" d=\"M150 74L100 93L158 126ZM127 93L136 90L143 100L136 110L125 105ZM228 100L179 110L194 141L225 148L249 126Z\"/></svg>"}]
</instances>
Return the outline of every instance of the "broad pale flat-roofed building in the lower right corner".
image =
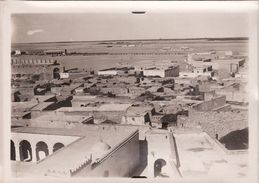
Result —
<instances>
[{"instance_id":1,"label":"broad pale flat-roofed building in the lower right corner","mask_svg":"<svg viewBox=\"0 0 259 183\"><path fill-rule=\"evenodd\" d=\"M203 115L202 117L204 118ZM185 178L236 179L239 177L242 179L243 177L245 179L247 176L248 153L246 151L230 152L205 132L175 133L174 140L181 164L179 171ZM240 175L240 167L244 167L242 175Z\"/></svg>"}]
</instances>

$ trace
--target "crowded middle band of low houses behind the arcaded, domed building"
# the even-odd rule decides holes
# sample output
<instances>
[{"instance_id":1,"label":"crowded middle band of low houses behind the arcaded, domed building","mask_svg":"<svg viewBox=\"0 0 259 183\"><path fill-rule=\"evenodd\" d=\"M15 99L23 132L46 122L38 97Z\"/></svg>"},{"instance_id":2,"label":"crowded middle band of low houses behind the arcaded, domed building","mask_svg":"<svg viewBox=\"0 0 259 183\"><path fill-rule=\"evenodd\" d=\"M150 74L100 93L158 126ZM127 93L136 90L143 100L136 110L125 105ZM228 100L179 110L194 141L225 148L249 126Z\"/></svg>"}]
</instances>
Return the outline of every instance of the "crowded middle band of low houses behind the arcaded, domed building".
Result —
<instances>
[{"instance_id":1,"label":"crowded middle band of low houses behind the arcaded, domed building","mask_svg":"<svg viewBox=\"0 0 259 183\"><path fill-rule=\"evenodd\" d=\"M223 53L225 57L222 56ZM48 68L55 67L51 71L52 79L28 82L26 79L13 78L12 124L53 126L51 124L55 121L61 127L69 127L76 121L71 122L71 116L87 116L77 123L167 128L179 126L178 116L188 116L190 110L224 112L233 107L245 110L247 99L243 86L246 81L231 77L233 64L237 63L236 67L242 68L244 58L229 61L232 52L218 54L190 54L187 61L191 69L187 72L180 71L179 65L172 61L148 60L132 66L99 70L96 74L77 73L73 76L73 73L66 72L64 68L61 72L62 69L58 68L56 62L47 62ZM213 74L219 69L215 65L222 65L222 60L217 60L218 58L226 58L224 63L229 63L225 67L230 68L229 77L220 81L213 78ZM18 62L17 59L14 61L16 70L18 63L27 64ZM34 66L42 67L42 61L38 60ZM21 66L19 70L21 75L22 68ZM45 123L38 122L48 115L56 117L46 117L44 120L48 122ZM60 116L66 118L62 117L60 120ZM184 126L183 123L181 125Z\"/></svg>"}]
</instances>

